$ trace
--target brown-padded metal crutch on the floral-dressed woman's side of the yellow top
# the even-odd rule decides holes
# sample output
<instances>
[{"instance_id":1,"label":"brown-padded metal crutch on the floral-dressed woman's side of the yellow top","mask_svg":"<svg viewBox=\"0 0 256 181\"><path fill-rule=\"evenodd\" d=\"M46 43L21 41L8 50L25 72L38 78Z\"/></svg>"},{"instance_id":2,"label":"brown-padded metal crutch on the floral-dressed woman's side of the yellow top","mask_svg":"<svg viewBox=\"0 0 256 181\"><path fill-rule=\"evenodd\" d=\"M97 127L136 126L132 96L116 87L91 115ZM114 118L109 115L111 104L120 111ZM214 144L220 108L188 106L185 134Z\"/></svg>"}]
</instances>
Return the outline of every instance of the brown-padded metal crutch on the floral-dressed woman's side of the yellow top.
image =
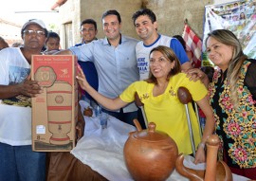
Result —
<instances>
[{"instance_id":1,"label":"brown-padded metal crutch on the floral-dressed woman's side of the yellow top","mask_svg":"<svg viewBox=\"0 0 256 181\"><path fill-rule=\"evenodd\" d=\"M192 154L193 157L195 157L195 147L194 147L194 140L193 140L193 134L192 134L192 122L189 112L188 103L192 101L192 95L189 92L189 90L185 87L179 87L177 90L177 97L178 100L185 105L186 108L186 116L188 120L188 126L190 130L190 137L191 137L191 143L192 143Z\"/></svg>"}]
</instances>

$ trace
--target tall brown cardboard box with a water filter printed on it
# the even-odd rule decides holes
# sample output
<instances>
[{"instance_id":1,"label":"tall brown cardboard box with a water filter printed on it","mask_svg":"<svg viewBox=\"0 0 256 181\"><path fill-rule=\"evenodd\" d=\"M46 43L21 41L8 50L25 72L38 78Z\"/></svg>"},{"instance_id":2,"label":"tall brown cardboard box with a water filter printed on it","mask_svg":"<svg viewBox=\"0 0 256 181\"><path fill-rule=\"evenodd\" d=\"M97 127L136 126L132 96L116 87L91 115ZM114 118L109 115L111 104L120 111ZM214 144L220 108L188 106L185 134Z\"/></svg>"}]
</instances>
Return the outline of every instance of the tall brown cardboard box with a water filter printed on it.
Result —
<instances>
[{"instance_id":1,"label":"tall brown cardboard box with a water filter printed on it","mask_svg":"<svg viewBox=\"0 0 256 181\"><path fill-rule=\"evenodd\" d=\"M31 78L44 93L32 98L32 149L70 152L78 119L77 59L72 55L34 55Z\"/></svg>"}]
</instances>

